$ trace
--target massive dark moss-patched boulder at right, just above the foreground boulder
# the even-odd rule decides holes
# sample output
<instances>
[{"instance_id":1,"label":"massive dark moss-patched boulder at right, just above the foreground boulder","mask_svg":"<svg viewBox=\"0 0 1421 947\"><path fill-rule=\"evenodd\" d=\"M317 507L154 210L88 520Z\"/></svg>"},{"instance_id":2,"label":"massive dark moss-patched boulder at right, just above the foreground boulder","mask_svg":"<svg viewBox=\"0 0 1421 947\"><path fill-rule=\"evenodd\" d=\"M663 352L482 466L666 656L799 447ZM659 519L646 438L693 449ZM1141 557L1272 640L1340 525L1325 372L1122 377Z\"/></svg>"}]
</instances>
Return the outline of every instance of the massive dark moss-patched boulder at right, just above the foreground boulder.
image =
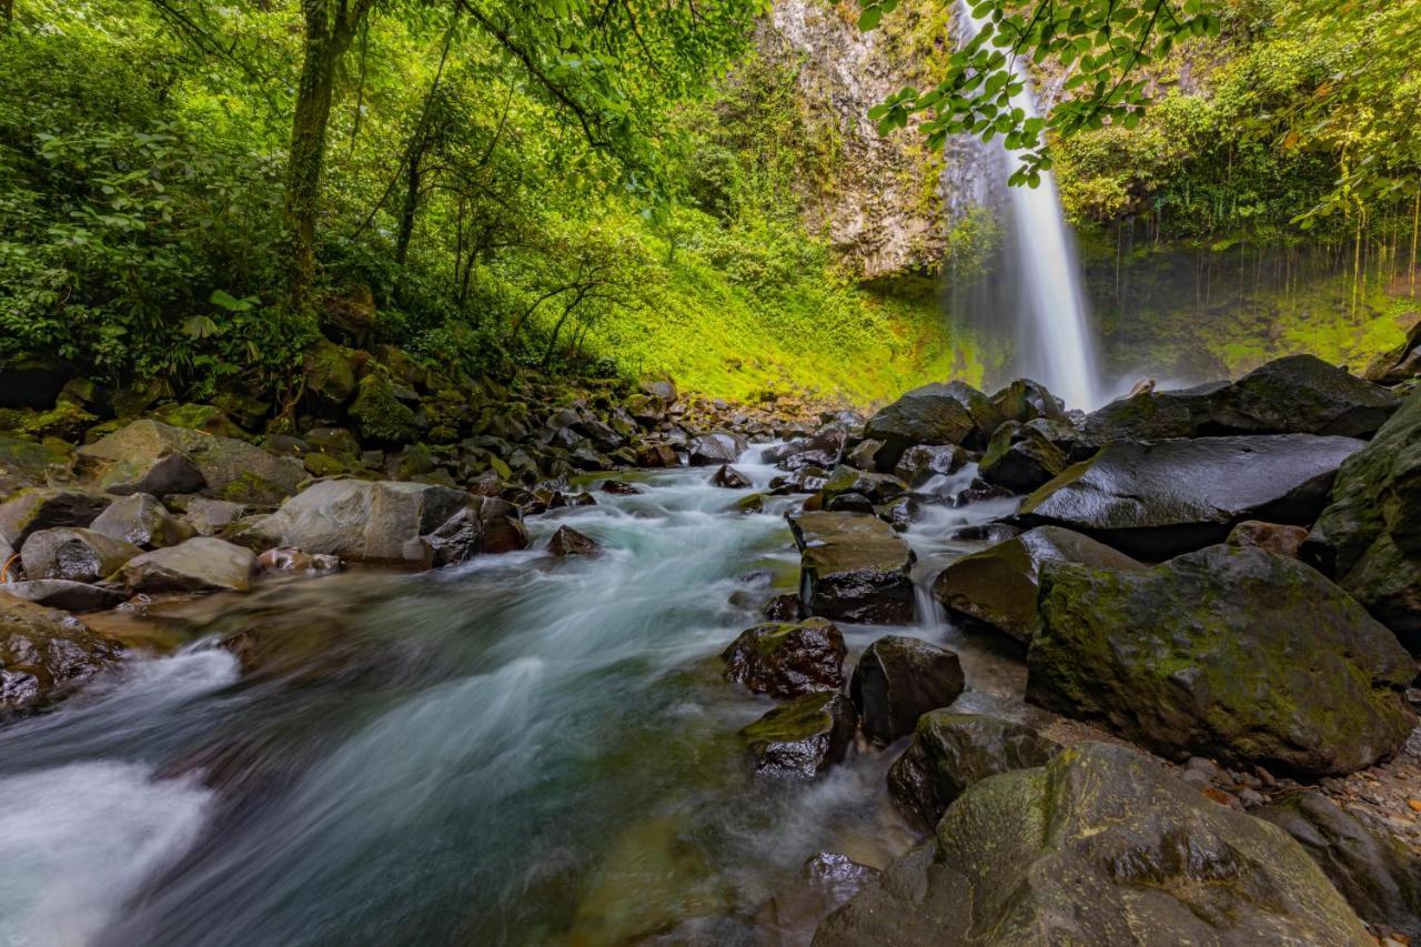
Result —
<instances>
[{"instance_id":1,"label":"massive dark moss-patched boulder at right, just above the foreground boulder","mask_svg":"<svg viewBox=\"0 0 1421 947\"><path fill-rule=\"evenodd\" d=\"M1211 546L1147 572L1052 563L1027 700L1160 754L1310 776L1391 756L1417 665L1320 573Z\"/></svg>"}]
</instances>

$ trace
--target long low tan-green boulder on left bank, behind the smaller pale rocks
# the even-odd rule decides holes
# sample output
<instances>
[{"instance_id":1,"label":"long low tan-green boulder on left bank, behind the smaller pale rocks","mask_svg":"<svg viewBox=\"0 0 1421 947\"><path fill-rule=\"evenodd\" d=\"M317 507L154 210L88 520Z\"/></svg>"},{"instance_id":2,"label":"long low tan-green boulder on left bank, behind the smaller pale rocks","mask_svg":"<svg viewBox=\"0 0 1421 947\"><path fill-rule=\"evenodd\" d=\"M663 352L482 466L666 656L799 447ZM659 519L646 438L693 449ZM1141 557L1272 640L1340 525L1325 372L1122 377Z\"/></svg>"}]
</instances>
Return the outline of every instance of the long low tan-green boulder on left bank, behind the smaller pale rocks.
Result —
<instances>
[{"instance_id":1,"label":"long low tan-green boulder on left bank, behind the smaller pale rocks","mask_svg":"<svg viewBox=\"0 0 1421 947\"><path fill-rule=\"evenodd\" d=\"M192 493L207 489L219 499L277 503L307 478L296 458L159 421L134 421L78 449L95 483L117 495Z\"/></svg>"}]
</instances>

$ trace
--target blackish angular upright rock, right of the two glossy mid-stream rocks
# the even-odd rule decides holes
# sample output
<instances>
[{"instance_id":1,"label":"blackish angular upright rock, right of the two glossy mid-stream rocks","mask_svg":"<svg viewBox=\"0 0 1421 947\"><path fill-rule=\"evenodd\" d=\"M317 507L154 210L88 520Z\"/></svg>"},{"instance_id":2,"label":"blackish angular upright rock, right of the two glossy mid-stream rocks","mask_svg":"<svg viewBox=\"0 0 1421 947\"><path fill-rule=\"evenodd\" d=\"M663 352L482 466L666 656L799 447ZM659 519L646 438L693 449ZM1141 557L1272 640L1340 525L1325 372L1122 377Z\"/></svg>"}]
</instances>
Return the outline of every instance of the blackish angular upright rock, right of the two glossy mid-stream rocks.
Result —
<instances>
[{"instance_id":1,"label":"blackish angular upright rock, right of the two glossy mid-stream rocks","mask_svg":"<svg viewBox=\"0 0 1421 947\"><path fill-rule=\"evenodd\" d=\"M955 653L922 638L885 634L858 658L848 695L864 735L891 744L911 734L928 711L958 700L963 684Z\"/></svg>"}]
</instances>

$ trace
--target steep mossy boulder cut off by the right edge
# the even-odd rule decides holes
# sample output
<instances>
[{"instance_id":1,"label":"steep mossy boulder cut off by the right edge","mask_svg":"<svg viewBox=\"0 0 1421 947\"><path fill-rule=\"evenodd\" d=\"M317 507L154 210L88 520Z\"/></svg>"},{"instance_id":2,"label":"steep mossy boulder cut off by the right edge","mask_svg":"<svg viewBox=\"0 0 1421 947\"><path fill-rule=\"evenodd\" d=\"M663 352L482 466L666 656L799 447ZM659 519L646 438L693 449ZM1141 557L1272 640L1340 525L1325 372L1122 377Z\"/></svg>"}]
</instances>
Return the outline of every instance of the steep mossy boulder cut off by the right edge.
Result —
<instances>
[{"instance_id":1,"label":"steep mossy boulder cut off by the right edge","mask_svg":"<svg viewBox=\"0 0 1421 947\"><path fill-rule=\"evenodd\" d=\"M1421 390L1341 465L1303 559L1421 654Z\"/></svg>"}]
</instances>

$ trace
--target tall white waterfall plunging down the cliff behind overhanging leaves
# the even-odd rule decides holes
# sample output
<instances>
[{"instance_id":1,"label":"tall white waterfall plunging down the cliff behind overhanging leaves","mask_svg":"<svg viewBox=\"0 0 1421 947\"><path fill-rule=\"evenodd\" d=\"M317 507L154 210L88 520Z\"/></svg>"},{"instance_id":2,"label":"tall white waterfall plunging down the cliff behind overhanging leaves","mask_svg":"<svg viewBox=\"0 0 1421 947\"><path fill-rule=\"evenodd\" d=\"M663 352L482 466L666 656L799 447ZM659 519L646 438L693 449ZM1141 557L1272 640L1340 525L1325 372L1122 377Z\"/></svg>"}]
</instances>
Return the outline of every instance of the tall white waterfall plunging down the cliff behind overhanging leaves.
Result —
<instances>
[{"instance_id":1,"label":"tall white waterfall plunging down the cliff behind overhanging leaves","mask_svg":"<svg viewBox=\"0 0 1421 947\"><path fill-rule=\"evenodd\" d=\"M966 3L958 7L965 30L975 34L982 28L983 23L972 16ZM1037 117L1026 67L1017 61L1013 68L1023 88L1012 97L1012 104L1027 117ZM1076 242L1061 213L1056 179L1046 171L1036 188L1002 188L1020 165L1020 156L1007 151L1002 137L976 145L985 152L980 156L986 166L972 182L973 199L979 206L998 206L1005 245L996 260L998 273L990 279L990 299L983 299L979 287L969 300L969 294L955 287L955 297L963 300L958 304L979 310L962 314L988 331L999 327L1003 317L1010 319L1016 326L1012 374L1043 382L1070 408L1094 408L1100 401L1096 346ZM968 173L971 176L971 171ZM995 200L986 193L983 178L998 185L992 188Z\"/></svg>"}]
</instances>

